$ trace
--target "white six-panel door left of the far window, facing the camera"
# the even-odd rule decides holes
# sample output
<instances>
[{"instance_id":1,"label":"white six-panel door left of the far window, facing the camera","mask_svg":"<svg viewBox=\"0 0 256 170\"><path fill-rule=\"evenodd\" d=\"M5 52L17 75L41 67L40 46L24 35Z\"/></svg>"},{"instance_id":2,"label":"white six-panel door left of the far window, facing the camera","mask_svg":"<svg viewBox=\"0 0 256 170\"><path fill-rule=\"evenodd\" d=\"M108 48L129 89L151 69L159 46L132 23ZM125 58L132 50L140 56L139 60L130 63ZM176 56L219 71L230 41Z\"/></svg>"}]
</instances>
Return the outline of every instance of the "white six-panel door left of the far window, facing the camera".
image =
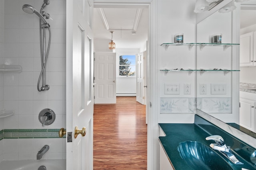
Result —
<instances>
[{"instance_id":1,"label":"white six-panel door left of the far window, facing the camera","mask_svg":"<svg viewBox=\"0 0 256 170\"><path fill-rule=\"evenodd\" d=\"M116 53L94 54L95 104L116 103Z\"/></svg>"}]
</instances>

